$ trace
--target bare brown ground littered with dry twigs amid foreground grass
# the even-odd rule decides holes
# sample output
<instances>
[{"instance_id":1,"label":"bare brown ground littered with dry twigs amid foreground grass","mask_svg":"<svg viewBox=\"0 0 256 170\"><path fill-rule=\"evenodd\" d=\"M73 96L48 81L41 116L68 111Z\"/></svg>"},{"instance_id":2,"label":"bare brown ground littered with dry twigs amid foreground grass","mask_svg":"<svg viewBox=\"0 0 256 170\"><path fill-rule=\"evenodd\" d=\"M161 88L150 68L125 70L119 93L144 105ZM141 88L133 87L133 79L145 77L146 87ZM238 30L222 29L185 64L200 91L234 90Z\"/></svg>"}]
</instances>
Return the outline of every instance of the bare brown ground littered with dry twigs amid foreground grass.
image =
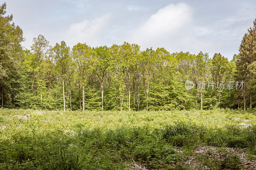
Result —
<instances>
[{"instance_id":1,"label":"bare brown ground littered with dry twigs amid foreground grass","mask_svg":"<svg viewBox=\"0 0 256 170\"><path fill-rule=\"evenodd\" d=\"M194 149L191 156L184 156L183 161L178 164L188 169L210 170L216 169L256 169L256 156L246 154L244 148L241 150L235 148L217 148L212 146L199 146ZM183 155L183 151L175 149ZM255 159L255 160L253 160ZM143 164L133 162L131 170L148 170ZM175 167L175 165L173 165Z\"/></svg>"}]
</instances>

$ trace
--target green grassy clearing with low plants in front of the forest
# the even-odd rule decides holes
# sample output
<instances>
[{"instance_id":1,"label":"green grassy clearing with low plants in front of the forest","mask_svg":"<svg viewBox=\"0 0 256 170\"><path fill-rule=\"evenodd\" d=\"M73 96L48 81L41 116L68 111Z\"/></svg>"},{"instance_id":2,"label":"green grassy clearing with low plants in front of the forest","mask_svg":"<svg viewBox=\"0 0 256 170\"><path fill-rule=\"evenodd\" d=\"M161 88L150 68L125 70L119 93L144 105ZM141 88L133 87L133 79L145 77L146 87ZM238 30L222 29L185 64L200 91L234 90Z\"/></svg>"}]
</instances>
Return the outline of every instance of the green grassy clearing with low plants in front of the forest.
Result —
<instances>
[{"instance_id":1,"label":"green grassy clearing with low plants in front of the forest","mask_svg":"<svg viewBox=\"0 0 256 170\"><path fill-rule=\"evenodd\" d=\"M195 169L239 169L237 155L223 148L248 147L251 162L256 155L253 110L2 109L0 115L0 169L129 169L134 162L148 169L192 169L184 160L196 158L199 146L217 147L219 158L211 160L220 164L200 155Z\"/></svg>"}]
</instances>

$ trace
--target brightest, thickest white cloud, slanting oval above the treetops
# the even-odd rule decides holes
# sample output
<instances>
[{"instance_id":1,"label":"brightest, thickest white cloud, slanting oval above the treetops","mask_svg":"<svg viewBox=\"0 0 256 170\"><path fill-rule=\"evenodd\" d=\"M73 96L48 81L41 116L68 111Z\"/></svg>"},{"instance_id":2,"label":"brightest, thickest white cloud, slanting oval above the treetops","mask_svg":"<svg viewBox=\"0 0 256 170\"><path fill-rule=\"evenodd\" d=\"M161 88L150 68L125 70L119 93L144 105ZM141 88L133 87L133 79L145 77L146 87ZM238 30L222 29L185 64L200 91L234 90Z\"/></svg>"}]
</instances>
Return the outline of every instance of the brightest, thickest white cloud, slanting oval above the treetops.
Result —
<instances>
[{"instance_id":1,"label":"brightest, thickest white cloud, slanting oval above the treetops","mask_svg":"<svg viewBox=\"0 0 256 170\"><path fill-rule=\"evenodd\" d=\"M151 15L130 39L142 46L166 42L191 23L192 15L193 10L186 3L169 4Z\"/></svg>"}]
</instances>

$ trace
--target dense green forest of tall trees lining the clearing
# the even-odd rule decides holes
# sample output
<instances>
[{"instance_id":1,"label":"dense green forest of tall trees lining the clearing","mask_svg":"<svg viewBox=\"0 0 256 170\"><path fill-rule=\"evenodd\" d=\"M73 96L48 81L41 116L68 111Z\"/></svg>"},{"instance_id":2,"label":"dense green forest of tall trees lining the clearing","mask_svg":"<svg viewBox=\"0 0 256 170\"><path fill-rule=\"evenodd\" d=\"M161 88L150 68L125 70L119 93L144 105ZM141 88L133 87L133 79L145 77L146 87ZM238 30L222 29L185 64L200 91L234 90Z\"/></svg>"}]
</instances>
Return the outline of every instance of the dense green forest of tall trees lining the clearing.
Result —
<instances>
[{"instance_id":1,"label":"dense green forest of tall trees lining the clearing","mask_svg":"<svg viewBox=\"0 0 256 170\"><path fill-rule=\"evenodd\" d=\"M41 34L24 50L22 29L12 18L2 4L1 107L149 111L256 106L256 19L241 37L239 54L228 61L218 52L141 50L128 42L91 47L84 40L68 47L61 41L52 47ZM186 80L194 88L187 90Z\"/></svg>"}]
</instances>

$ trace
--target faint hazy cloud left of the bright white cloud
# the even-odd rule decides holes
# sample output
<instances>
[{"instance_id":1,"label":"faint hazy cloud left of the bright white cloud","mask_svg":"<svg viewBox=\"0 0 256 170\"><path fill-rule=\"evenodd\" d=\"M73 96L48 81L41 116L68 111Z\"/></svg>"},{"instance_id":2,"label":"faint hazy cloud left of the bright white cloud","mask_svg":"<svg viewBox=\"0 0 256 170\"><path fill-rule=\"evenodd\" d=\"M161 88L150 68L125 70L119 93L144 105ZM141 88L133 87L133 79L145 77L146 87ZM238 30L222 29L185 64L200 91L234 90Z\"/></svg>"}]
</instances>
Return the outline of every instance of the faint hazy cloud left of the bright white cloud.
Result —
<instances>
[{"instance_id":1,"label":"faint hazy cloud left of the bright white cloud","mask_svg":"<svg viewBox=\"0 0 256 170\"><path fill-rule=\"evenodd\" d=\"M64 37L71 47L78 42L86 42L92 46L101 45L102 34L108 27L111 18L111 14L105 14L93 20L86 19L78 23L72 23L64 33Z\"/></svg>"}]
</instances>

